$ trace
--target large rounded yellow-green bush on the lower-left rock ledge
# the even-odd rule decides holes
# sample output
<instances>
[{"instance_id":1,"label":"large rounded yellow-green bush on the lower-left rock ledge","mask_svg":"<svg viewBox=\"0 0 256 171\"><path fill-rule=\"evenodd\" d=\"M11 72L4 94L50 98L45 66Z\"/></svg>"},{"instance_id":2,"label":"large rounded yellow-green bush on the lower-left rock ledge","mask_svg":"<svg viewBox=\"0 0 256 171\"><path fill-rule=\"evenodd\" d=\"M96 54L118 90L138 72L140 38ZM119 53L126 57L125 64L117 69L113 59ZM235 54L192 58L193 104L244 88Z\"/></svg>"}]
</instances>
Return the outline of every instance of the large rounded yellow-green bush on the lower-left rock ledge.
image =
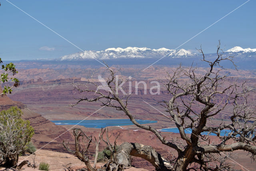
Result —
<instances>
[{"instance_id":1,"label":"large rounded yellow-green bush on the lower-left rock ledge","mask_svg":"<svg viewBox=\"0 0 256 171\"><path fill-rule=\"evenodd\" d=\"M0 165L16 167L18 157L26 151L26 145L34 134L30 121L21 118L18 107L0 112Z\"/></svg>"}]
</instances>

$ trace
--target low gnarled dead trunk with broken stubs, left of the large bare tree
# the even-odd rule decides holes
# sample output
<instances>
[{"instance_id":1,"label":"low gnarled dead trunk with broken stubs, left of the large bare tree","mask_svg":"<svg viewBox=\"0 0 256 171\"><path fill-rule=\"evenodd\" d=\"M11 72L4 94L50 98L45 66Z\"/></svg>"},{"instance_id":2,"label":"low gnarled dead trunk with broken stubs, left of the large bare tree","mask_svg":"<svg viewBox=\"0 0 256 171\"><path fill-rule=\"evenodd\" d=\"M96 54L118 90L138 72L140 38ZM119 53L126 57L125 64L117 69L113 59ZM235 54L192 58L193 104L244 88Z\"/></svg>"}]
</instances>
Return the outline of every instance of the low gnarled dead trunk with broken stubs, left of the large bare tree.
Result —
<instances>
[{"instance_id":1,"label":"low gnarled dead trunk with broken stubs, left of the large bare tree","mask_svg":"<svg viewBox=\"0 0 256 171\"><path fill-rule=\"evenodd\" d=\"M106 133L106 138L104 139L103 135ZM102 129L99 133L98 139L94 137L94 141L92 141L92 136L87 136L84 131L79 128L73 129L73 135L75 138L75 149L72 150L69 147L69 143L66 144L63 141L63 145L67 151L73 153L80 159L82 162L86 164L88 171L123 171L131 167L130 156L141 157L150 163L154 167L161 167L161 170L166 170L167 168L172 168L168 161L166 161L159 153L156 152L155 149L148 145L142 145L140 143L122 143L118 150L116 145L116 139L118 138L119 134L116 136L114 143L110 143L110 137L108 133L108 128ZM98 151L99 151L99 144L100 141L103 141L106 144L106 149L110 151L110 158L108 159L106 165L100 169L96 169L96 163L98 159ZM89 159L89 147L94 143L96 145L95 148L95 158L94 158L94 165L93 167L90 164ZM165 168L165 169L164 169ZM168 170L168 169L167 169Z\"/></svg>"}]
</instances>

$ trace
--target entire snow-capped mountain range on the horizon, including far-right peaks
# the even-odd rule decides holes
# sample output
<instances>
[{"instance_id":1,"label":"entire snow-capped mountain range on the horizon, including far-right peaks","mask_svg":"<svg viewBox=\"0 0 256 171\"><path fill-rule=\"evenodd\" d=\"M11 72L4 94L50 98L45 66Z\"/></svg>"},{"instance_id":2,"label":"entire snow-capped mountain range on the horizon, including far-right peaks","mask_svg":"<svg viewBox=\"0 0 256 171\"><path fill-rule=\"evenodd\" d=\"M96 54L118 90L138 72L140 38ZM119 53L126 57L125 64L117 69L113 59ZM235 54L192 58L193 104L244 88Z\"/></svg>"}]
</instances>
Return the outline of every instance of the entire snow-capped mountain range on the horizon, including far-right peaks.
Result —
<instances>
[{"instance_id":1,"label":"entire snow-capped mountain range on the horizon, including far-right peaks","mask_svg":"<svg viewBox=\"0 0 256 171\"><path fill-rule=\"evenodd\" d=\"M256 49L246 48L243 49L239 46L227 50L224 54L230 56L256 56ZM242 55L241 55L242 54ZM111 60L117 58L161 58L163 56L170 58L181 58L181 57L196 57L198 54L192 53L188 50L171 50L166 48L160 49L149 49L149 48L108 48L102 51L84 51L77 52L70 55L60 57L58 60L61 61L73 61L73 60L87 60L87 59L98 59L98 60Z\"/></svg>"}]
</instances>

